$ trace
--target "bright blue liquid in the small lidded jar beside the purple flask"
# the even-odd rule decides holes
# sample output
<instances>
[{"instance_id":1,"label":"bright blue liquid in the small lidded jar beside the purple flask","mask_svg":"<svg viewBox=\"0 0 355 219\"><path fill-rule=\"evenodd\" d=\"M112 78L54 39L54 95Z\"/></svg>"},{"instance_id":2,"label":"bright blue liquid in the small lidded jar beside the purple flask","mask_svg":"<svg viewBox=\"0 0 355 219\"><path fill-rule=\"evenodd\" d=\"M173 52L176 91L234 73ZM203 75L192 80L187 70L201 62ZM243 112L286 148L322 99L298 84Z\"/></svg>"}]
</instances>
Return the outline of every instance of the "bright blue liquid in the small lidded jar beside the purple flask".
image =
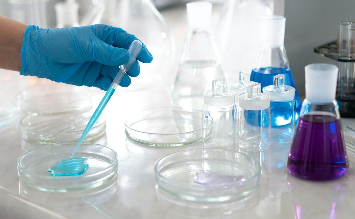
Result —
<instances>
[{"instance_id":1,"label":"bright blue liquid in the small lidded jar beside the purple flask","mask_svg":"<svg viewBox=\"0 0 355 219\"><path fill-rule=\"evenodd\" d=\"M283 127L293 122L294 105L292 101L270 102L271 127Z\"/></svg>"}]
</instances>

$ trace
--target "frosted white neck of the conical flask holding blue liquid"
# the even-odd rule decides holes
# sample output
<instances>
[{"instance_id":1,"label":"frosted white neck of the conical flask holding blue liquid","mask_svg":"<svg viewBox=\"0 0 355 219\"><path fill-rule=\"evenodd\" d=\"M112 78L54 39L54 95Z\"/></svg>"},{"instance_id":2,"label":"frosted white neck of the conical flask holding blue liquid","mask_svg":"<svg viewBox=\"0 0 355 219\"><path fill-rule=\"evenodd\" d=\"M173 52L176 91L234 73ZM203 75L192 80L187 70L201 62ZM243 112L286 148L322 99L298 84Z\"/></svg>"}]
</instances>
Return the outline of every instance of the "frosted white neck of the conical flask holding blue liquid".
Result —
<instances>
[{"instance_id":1,"label":"frosted white neck of the conical flask holding blue liquid","mask_svg":"<svg viewBox=\"0 0 355 219\"><path fill-rule=\"evenodd\" d=\"M272 15L259 17L259 38L263 47L280 47L284 45L285 38L284 16Z\"/></svg>"}]
</instances>

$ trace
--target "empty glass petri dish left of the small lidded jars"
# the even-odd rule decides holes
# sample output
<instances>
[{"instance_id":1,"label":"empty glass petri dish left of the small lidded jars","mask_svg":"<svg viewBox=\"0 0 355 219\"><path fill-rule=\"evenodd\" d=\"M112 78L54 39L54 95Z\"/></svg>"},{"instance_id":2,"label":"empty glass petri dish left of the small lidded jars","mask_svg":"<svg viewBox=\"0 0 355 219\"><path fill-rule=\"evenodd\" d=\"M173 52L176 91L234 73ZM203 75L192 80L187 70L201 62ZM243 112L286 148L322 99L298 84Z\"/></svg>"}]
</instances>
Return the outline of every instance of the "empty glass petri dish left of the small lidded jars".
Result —
<instances>
[{"instance_id":1,"label":"empty glass petri dish left of the small lidded jars","mask_svg":"<svg viewBox=\"0 0 355 219\"><path fill-rule=\"evenodd\" d=\"M149 146L181 146L202 137L202 112L178 107L133 113L125 122L126 135Z\"/></svg>"}]
</instances>

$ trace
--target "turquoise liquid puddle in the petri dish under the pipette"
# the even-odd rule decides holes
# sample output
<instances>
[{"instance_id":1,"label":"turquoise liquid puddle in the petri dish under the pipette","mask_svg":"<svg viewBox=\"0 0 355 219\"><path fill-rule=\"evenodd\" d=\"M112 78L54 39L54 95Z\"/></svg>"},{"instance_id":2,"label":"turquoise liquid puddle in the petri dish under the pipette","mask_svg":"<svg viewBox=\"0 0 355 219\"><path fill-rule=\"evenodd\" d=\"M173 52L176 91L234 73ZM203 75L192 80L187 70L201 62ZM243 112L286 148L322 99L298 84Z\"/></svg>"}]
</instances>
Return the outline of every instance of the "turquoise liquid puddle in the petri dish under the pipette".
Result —
<instances>
[{"instance_id":1,"label":"turquoise liquid puddle in the petri dish under the pipette","mask_svg":"<svg viewBox=\"0 0 355 219\"><path fill-rule=\"evenodd\" d=\"M56 162L48 169L51 176L78 176L85 173L87 157L71 157Z\"/></svg>"}]
</instances>

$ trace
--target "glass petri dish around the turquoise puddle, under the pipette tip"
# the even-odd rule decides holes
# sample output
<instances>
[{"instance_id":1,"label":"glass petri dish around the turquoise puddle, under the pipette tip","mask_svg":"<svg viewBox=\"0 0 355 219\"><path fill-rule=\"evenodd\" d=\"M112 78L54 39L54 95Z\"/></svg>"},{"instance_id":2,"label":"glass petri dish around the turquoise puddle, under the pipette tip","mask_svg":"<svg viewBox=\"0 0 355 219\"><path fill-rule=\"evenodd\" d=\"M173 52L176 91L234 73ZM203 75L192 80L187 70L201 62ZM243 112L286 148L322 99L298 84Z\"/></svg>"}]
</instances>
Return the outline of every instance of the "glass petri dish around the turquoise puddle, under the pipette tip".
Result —
<instances>
[{"instance_id":1,"label":"glass petri dish around the turquoise puddle, under the pipette tip","mask_svg":"<svg viewBox=\"0 0 355 219\"><path fill-rule=\"evenodd\" d=\"M88 157L88 168L78 176L50 176L48 168L70 156L76 142L46 145L35 148L20 158L17 170L25 185L51 192L70 192L93 189L117 177L118 161L115 151L108 147L84 142L75 156Z\"/></svg>"}]
</instances>

